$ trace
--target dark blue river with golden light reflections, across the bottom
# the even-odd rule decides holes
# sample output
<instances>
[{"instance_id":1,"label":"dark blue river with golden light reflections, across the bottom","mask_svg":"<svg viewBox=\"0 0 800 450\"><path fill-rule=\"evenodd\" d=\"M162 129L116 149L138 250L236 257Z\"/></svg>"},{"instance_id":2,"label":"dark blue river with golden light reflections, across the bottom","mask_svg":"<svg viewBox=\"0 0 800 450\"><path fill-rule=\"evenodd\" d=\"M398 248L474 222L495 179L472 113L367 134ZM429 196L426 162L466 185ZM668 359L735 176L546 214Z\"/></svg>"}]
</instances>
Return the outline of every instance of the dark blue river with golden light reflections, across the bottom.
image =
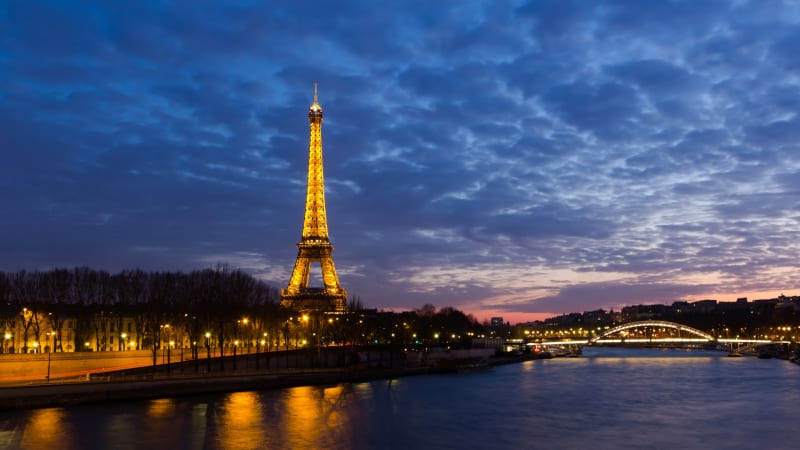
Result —
<instances>
[{"instance_id":1,"label":"dark blue river with golden light reflections, across the bottom","mask_svg":"<svg viewBox=\"0 0 800 450\"><path fill-rule=\"evenodd\" d=\"M800 447L800 366L587 348L446 375L0 413L0 448Z\"/></svg>"}]
</instances>

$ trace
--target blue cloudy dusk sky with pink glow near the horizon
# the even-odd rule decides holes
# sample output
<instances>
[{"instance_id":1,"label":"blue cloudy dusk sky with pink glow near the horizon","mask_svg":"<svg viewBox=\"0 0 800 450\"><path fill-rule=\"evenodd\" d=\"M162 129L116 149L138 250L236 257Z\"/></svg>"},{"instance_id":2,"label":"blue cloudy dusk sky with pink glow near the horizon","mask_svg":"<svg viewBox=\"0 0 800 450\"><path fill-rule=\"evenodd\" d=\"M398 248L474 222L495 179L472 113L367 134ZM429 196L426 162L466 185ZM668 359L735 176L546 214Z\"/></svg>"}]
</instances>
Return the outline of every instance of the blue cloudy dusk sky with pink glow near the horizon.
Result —
<instances>
[{"instance_id":1,"label":"blue cloudy dusk sky with pink glow near the horizon","mask_svg":"<svg viewBox=\"0 0 800 450\"><path fill-rule=\"evenodd\" d=\"M318 82L368 306L800 294L798 49L790 1L4 2L0 270L285 287Z\"/></svg>"}]
</instances>

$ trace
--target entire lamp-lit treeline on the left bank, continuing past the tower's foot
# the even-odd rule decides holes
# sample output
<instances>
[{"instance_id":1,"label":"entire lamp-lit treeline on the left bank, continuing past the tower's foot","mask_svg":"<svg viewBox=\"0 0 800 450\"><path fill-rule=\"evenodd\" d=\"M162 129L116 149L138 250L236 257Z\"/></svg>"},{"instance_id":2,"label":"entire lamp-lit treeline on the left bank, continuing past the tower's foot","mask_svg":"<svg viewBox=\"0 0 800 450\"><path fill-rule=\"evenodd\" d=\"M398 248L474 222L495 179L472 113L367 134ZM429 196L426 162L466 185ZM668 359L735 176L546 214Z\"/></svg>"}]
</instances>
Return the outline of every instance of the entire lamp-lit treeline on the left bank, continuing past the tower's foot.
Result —
<instances>
[{"instance_id":1,"label":"entire lamp-lit treeline on the left bank, continuing past the tower's foot","mask_svg":"<svg viewBox=\"0 0 800 450\"><path fill-rule=\"evenodd\" d=\"M15 350L23 353L31 342L63 352L67 342L82 351L91 341L87 348L97 351L127 344L151 349L155 358L159 346L173 339L194 351L234 342L267 350L348 343L468 346L486 328L452 307L379 312L358 298L346 314L301 314L280 306L278 289L225 266L188 273L112 274L86 267L0 272L0 331L18 330ZM64 330L74 335L62 336ZM123 333L132 341L121 339Z\"/></svg>"}]
</instances>

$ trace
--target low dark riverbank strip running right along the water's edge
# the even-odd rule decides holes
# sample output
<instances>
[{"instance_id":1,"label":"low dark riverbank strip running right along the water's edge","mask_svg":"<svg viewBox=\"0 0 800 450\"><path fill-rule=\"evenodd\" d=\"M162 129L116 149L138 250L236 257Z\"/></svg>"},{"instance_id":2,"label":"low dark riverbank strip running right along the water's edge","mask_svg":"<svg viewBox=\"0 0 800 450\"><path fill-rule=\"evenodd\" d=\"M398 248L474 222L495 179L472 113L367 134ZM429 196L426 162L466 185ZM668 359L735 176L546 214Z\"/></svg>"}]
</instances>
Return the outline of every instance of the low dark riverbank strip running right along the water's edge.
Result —
<instances>
[{"instance_id":1,"label":"low dark riverbank strip running right along the water's edge","mask_svg":"<svg viewBox=\"0 0 800 450\"><path fill-rule=\"evenodd\" d=\"M198 395L215 392L282 389L295 386L359 383L413 375L475 370L533 359L531 355L500 356L482 365L364 367L248 371L239 374L152 375L150 379L115 380L86 377L81 381L53 382L0 388L0 409L33 409L83 403Z\"/></svg>"}]
</instances>

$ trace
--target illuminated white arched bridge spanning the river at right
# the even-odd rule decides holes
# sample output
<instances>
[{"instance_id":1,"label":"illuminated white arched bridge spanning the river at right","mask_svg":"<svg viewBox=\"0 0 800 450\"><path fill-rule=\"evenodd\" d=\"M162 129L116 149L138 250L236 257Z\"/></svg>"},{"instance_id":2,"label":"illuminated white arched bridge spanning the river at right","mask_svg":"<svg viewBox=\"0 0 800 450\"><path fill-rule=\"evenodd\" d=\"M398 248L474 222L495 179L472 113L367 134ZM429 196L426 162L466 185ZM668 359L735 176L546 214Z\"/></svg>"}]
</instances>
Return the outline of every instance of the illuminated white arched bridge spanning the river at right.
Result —
<instances>
[{"instance_id":1,"label":"illuminated white arched bridge spanning the river at right","mask_svg":"<svg viewBox=\"0 0 800 450\"><path fill-rule=\"evenodd\" d=\"M701 345L701 344L724 344L726 347L754 347L764 344L785 344L789 341L773 341L769 339L723 339L683 325L666 320L642 320L638 322L628 322L610 328L589 340L568 340L568 341L543 341L539 345L561 346L561 347L582 347L584 345L603 345L603 344L633 344L643 346L653 345Z\"/></svg>"}]
</instances>

